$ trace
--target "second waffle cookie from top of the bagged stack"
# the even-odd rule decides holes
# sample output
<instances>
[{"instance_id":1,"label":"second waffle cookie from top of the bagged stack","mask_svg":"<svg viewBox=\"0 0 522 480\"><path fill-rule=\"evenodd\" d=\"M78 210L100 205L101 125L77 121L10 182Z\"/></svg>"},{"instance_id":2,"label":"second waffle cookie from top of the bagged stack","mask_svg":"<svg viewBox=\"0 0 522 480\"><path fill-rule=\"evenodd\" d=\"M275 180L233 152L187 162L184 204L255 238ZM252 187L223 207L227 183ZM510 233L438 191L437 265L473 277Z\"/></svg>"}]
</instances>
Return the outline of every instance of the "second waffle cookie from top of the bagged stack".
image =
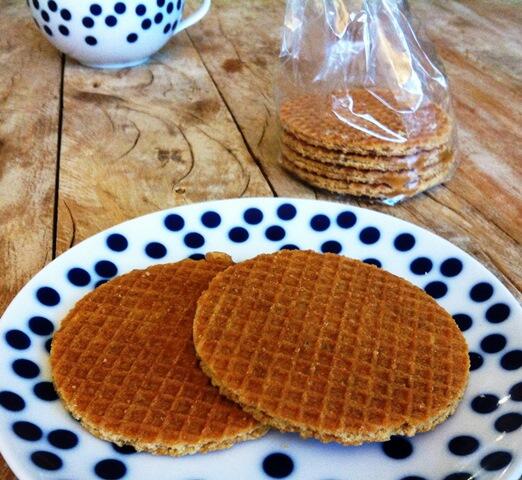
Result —
<instances>
[{"instance_id":1,"label":"second waffle cookie from top of the bagged stack","mask_svg":"<svg viewBox=\"0 0 522 480\"><path fill-rule=\"evenodd\" d=\"M445 158L453 156L446 147L420 151L400 157L357 155L328 148L316 147L283 132L281 143L303 157L329 165L359 168L361 170L399 171L413 168L423 169Z\"/></svg>"}]
</instances>

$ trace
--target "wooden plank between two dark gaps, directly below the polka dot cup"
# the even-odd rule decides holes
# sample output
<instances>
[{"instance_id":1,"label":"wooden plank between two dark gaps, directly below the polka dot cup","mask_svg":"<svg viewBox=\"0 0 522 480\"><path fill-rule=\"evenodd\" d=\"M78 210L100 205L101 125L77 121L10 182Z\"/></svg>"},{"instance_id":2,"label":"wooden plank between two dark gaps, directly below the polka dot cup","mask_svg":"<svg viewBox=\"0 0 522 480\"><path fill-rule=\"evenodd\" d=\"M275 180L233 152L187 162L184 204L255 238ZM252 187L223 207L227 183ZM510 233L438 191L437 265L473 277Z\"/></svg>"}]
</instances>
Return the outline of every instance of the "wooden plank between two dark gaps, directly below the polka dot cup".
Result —
<instances>
[{"instance_id":1,"label":"wooden plank between two dark gaps, directly below the polka dot cup","mask_svg":"<svg viewBox=\"0 0 522 480\"><path fill-rule=\"evenodd\" d=\"M184 33L139 68L67 60L59 252L158 209L271 194Z\"/></svg>"}]
</instances>

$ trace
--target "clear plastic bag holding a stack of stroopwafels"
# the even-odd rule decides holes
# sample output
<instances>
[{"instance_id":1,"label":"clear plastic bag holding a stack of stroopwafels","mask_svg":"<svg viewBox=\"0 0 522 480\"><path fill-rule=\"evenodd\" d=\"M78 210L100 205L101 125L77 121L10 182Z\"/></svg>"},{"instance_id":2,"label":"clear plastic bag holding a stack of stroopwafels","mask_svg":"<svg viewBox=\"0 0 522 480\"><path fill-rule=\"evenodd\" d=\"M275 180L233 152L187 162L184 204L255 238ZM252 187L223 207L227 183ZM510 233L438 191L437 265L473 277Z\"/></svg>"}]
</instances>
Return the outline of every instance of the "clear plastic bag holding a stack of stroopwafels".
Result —
<instances>
[{"instance_id":1,"label":"clear plastic bag holding a stack of stroopwafels","mask_svg":"<svg viewBox=\"0 0 522 480\"><path fill-rule=\"evenodd\" d=\"M281 161L316 187L388 204L455 169L448 81L405 0L287 0Z\"/></svg>"}]
</instances>

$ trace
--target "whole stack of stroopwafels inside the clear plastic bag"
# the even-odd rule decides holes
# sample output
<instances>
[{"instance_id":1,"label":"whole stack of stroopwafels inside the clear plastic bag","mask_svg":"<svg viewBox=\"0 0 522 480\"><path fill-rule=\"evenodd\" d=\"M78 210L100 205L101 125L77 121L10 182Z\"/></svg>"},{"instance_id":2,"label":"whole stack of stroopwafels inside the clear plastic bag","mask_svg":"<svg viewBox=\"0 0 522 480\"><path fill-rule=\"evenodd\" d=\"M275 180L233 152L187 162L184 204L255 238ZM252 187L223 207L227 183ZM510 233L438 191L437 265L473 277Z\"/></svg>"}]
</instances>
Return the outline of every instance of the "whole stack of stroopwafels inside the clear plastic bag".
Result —
<instances>
[{"instance_id":1,"label":"whole stack of stroopwafels inside the clear plastic bag","mask_svg":"<svg viewBox=\"0 0 522 480\"><path fill-rule=\"evenodd\" d=\"M413 196L451 174L452 122L441 107L427 103L408 113L385 90L347 93L350 107L334 108L339 94L283 102L287 170L325 190L371 198Z\"/></svg>"}]
</instances>

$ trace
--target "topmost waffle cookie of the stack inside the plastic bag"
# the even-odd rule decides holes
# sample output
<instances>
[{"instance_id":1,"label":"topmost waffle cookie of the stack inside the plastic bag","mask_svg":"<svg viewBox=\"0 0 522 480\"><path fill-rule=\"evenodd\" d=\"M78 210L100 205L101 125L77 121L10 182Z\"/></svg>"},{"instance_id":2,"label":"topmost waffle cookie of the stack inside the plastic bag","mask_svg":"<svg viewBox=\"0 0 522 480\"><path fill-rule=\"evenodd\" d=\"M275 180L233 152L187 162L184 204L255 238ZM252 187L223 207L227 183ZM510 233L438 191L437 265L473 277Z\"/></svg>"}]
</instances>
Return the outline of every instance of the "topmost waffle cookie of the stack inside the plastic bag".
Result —
<instances>
[{"instance_id":1,"label":"topmost waffle cookie of the stack inside the plastic bag","mask_svg":"<svg viewBox=\"0 0 522 480\"><path fill-rule=\"evenodd\" d=\"M349 93L357 112L371 115L375 123L398 132L406 141L401 143L378 138L339 120L333 113L332 95L306 94L286 100L279 110L282 128L311 145L360 155L411 155L438 148L450 140L451 121L438 105L429 103L414 113L399 114L366 90L354 88ZM387 102L393 102L390 92L377 93ZM358 117L357 124L368 131L377 130L384 138L391 136L363 118Z\"/></svg>"}]
</instances>

